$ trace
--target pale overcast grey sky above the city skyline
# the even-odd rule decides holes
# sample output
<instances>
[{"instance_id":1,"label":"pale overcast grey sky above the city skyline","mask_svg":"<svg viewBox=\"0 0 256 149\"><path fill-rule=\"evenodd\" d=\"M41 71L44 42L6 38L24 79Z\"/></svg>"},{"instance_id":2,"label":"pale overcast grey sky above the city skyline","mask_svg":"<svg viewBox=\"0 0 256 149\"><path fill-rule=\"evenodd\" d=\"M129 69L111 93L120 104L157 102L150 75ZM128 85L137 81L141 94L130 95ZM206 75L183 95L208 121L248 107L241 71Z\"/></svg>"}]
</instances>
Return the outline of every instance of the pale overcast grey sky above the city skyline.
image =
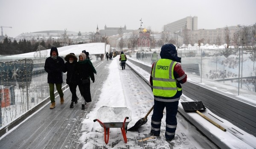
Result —
<instances>
[{"instance_id":1,"label":"pale overcast grey sky above the city skyline","mask_svg":"<svg viewBox=\"0 0 256 149\"><path fill-rule=\"evenodd\" d=\"M47 30L96 32L107 27L161 32L163 25L198 17L198 29L256 23L256 0L0 0L3 34Z\"/></svg>"}]
</instances>

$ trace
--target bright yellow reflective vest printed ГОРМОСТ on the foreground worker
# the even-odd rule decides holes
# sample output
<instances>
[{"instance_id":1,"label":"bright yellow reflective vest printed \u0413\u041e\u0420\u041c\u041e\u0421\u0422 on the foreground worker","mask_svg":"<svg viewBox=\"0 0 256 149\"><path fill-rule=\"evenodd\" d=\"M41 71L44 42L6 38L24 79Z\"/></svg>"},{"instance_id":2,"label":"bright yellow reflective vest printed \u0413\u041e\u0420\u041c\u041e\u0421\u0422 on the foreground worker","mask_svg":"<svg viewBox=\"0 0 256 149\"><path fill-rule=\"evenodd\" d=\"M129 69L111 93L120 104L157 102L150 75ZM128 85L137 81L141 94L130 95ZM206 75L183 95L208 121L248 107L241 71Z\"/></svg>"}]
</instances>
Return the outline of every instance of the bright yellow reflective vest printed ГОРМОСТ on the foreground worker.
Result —
<instances>
[{"instance_id":1,"label":"bright yellow reflective vest printed \u0413\u041e\u0420\u041c\u041e\u0421\u0422 on the foreground worker","mask_svg":"<svg viewBox=\"0 0 256 149\"><path fill-rule=\"evenodd\" d=\"M176 63L169 59L160 59L155 62L151 74L154 96L173 97L176 95L177 85L173 75Z\"/></svg>"}]
</instances>

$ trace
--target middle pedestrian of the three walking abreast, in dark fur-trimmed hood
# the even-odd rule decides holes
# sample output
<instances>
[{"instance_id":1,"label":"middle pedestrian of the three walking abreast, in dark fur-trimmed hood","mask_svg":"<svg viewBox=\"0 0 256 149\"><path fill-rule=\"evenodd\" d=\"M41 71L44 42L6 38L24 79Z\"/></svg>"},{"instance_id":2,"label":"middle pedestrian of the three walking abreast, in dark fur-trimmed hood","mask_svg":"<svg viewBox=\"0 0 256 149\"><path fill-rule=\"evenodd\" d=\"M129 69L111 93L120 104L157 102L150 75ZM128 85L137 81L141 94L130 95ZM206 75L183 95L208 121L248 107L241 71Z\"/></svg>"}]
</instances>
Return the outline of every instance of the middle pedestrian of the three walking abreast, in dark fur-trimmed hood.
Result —
<instances>
[{"instance_id":1,"label":"middle pedestrian of the three walking abreast, in dark fur-trimmed hood","mask_svg":"<svg viewBox=\"0 0 256 149\"><path fill-rule=\"evenodd\" d=\"M76 87L78 84L78 80L77 80L78 75L75 72L75 67L77 64L77 57L74 53L70 53L64 57L64 60L67 61L65 63L65 69L64 69L64 73L67 72L66 83L68 84L68 86L70 88L70 92L72 94L70 108L73 108L74 103L78 103L77 100L79 100L79 98L76 95Z\"/></svg>"}]
</instances>

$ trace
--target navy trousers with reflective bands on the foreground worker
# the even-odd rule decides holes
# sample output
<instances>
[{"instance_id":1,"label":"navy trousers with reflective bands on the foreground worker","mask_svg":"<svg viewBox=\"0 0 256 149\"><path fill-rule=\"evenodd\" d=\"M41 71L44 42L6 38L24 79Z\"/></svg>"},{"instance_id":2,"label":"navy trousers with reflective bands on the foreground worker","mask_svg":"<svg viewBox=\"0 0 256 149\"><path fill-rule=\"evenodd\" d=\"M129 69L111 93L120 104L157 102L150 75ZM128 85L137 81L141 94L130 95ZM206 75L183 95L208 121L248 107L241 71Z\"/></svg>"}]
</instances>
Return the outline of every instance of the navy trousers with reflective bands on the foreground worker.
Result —
<instances>
[{"instance_id":1,"label":"navy trousers with reflective bands on the foreground worker","mask_svg":"<svg viewBox=\"0 0 256 149\"><path fill-rule=\"evenodd\" d=\"M151 117L151 129L154 133L160 134L161 120L163 118L163 110L166 108L166 138L174 138L177 127L177 111L179 101L162 102L154 100L154 111Z\"/></svg>"}]
</instances>

